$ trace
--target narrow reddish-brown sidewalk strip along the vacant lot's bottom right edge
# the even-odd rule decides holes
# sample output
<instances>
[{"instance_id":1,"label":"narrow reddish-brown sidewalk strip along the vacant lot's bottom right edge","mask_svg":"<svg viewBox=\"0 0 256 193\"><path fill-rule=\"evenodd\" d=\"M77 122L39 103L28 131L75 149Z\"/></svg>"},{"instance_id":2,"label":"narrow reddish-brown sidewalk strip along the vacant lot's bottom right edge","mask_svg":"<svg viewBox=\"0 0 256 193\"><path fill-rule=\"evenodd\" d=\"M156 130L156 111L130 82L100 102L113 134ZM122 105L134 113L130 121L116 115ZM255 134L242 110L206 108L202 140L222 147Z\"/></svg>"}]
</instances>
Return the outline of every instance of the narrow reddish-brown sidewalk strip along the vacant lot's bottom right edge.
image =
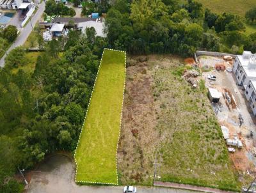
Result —
<instances>
[{"instance_id":1,"label":"narrow reddish-brown sidewalk strip along the vacant lot's bottom right edge","mask_svg":"<svg viewBox=\"0 0 256 193\"><path fill-rule=\"evenodd\" d=\"M163 181L155 181L154 186L168 187L168 188L174 188L174 189L195 190L200 192L230 193L230 191L225 191L225 190L212 189L208 187L198 187L195 185L188 185L188 184L182 184L182 183L163 182Z\"/></svg>"}]
</instances>

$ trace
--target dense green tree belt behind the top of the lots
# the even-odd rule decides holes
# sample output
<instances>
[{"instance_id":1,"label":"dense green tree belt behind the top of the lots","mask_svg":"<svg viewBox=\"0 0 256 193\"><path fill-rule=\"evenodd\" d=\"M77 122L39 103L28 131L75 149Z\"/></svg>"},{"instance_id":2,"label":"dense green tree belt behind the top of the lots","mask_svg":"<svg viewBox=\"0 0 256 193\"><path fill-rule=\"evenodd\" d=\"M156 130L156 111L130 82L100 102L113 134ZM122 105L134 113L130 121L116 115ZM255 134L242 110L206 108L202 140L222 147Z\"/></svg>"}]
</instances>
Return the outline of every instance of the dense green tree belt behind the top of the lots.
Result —
<instances>
[{"instance_id":1,"label":"dense green tree belt behind the top of the lots","mask_svg":"<svg viewBox=\"0 0 256 193\"><path fill-rule=\"evenodd\" d=\"M117 0L105 24L109 45L132 54L191 56L197 49L236 54L250 44L241 17L204 12L194 0Z\"/></svg>"}]
</instances>

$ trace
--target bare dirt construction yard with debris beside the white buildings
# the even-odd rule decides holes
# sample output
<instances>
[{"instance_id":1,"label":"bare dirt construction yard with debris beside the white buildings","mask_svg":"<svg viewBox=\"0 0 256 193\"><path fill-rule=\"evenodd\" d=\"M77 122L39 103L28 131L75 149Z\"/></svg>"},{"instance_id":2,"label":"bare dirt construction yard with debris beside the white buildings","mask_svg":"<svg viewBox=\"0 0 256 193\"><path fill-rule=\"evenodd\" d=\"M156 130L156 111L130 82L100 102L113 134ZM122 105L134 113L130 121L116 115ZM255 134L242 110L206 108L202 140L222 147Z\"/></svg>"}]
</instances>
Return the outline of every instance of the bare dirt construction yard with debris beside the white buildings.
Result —
<instances>
[{"instance_id":1,"label":"bare dirt construction yard with debris beside the white buildings","mask_svg":"<svg viewBox=\"0 0 256 193\"><path fill-rule=\"evenodd\" d=\"M228 72L233 61L213 56L200 56L198 59L201 69L208 69L203 70L205 72L202 74L205 86L216 88L221 93L220 102L212 103L220 125L228 128L230 139L237 137L243 144L243 148L230 146L235 149L234 153L230 153L230 158L243 181L244 175L253 176L255 173L255 117L244 96L244 89L237 86L234 73ZM216 70L216 66L225 66L226 70ZM209 75L216 76L216 81L209 79Z\"/></svg>"}]
</instances>

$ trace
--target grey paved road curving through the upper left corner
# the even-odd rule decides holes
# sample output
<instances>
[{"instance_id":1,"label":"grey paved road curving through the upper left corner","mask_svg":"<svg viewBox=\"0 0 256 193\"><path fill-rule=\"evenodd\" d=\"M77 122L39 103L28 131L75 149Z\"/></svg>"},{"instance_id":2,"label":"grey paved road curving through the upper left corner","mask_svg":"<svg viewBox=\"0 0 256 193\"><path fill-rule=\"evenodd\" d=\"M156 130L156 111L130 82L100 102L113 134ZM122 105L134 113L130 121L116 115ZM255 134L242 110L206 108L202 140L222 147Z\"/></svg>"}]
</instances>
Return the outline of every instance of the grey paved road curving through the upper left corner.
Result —
<instances>
[{"instance_id":1,"label":"grey paved road curving through the upper left corner","mask_svg":"<svg viewBox=\"0 0 256 193\"><path fill-rule=\"evenodd\" d=\"M43 1L41 4L38 5L38 10L36 11L35 15L33 15L32 19L31 19L31 23L32 23L33 27L35 27L36 22L41 18L42 14L44 13L44 10L45 10L45 3ZM26 27L20 29L19 36L17 37L15 42L11 45L11 47L6 52L9 53L12 49L15 49L15 47L23 45L26 42L33 27L31 27L31 24L28 23ZM6 54L4 54L3 58L0 59L1 67L4 66L5 57L6 57Z\"/></svg>"}]
</instances>

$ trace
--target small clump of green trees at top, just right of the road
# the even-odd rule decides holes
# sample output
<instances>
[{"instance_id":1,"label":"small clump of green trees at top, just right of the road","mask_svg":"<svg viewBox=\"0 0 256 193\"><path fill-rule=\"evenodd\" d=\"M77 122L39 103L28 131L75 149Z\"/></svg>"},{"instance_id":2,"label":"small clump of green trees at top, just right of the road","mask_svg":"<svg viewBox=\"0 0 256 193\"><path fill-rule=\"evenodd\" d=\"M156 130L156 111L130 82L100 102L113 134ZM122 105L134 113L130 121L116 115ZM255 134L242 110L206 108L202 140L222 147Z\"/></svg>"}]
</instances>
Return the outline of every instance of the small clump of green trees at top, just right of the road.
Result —
<instances>
[{"instance_id":1,"label":"small clump of green trees at top, just right of the road","mask_svg":"<svg viewBox=\"0 0 256 193\"><path fill-rule=\"evenodd\" d=\"M45 4L45 13L47 15L70 15L74 16L76 15L76 12L72 8L68 8L63 3L55 3L54 0L47 1Z\"/></svg>"}]
</instances>

